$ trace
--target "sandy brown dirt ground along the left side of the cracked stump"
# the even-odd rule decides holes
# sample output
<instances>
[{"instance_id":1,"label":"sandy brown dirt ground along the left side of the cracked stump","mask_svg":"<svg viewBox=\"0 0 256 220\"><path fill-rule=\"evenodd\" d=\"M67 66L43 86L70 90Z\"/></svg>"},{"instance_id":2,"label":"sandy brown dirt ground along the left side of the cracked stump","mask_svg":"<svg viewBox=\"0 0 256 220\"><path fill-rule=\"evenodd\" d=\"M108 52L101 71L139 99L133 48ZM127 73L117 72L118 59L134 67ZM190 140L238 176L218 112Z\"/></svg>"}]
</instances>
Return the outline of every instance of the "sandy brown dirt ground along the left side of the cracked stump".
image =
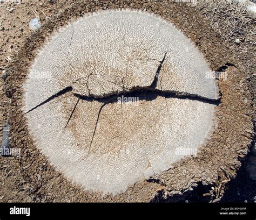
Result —
<instances>
[{"instance_id":1,"label":"sandy brown dirt ground along the left side of the cracked stump","mask_svg":"<svg viewBox=\"0 0 256 220\"><path fill-rule=\"evenodd\" d=\"M24 40L33 32L29 27L29 21L38 17L40 23L44 23L51 16L57 14L59 9L72 4L73 1L22 1L22 3L0 3L0 70L5 69L11 55L19 49ZM11 9L14 9L13 11ZM1 100L3 96L3 82L1 78ZM8 100L1 101L0 129L3 129L3 105ZM1 138L2 141L2 138ZM17 166L16 158L9 157L0 160L1 193L0 201L6 202L31 202L26 194L26 186L21 175L21 167Z\"/></svg>"}]
</instances>

